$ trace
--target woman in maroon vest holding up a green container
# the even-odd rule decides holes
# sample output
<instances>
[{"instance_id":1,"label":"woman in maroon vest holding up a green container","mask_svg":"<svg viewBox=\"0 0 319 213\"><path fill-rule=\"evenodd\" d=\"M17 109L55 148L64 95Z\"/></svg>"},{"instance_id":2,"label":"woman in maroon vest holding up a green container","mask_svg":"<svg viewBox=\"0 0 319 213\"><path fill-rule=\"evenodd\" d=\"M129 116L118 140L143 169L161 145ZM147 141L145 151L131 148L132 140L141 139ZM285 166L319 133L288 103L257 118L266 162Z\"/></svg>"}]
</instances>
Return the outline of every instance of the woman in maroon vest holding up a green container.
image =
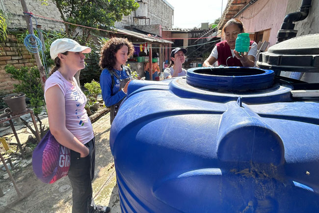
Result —
<instances>
[{"instance_id":1,"label":"woman in maroon vest holding up a green container","mask_svg":"<svg viewBox=\"0 0 319 213\"><path fill-rule=\"evenodd\" d=\"M257 44L250 41L249 51L241 52L235 50L236 39L239 33L243 33L243 25L239 19L230 19L222 30L225 40L217 43L204 66L212 66L216 61L225 66L255 66L257 55Z\"/></svg>"}]
</instances>

